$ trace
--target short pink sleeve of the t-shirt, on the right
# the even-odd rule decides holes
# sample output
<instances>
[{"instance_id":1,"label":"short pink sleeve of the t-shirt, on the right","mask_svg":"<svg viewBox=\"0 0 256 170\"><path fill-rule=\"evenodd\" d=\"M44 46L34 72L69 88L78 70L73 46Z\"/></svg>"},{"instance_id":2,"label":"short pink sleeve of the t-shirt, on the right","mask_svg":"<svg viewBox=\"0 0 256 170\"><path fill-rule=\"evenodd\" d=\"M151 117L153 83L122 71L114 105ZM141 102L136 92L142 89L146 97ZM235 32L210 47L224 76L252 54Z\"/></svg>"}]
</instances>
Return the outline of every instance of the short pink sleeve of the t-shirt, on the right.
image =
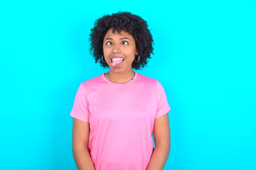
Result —
<instances>
[{"instance_id":1,"label":"short pink sleeve of the t-shirt, on the right","mask_svg":"<svg viewBox=\"0 0 256 170\"><path fill-rule=\"evenodd\" d=\"M156 85L156 91L157 91L157 113L156 113L155 119L157 119L160 116L163 116L164 114L168 113L171 110L167 102L167 97L163 89L163 86L158 81Z\"/></svg>"}]
</instances>

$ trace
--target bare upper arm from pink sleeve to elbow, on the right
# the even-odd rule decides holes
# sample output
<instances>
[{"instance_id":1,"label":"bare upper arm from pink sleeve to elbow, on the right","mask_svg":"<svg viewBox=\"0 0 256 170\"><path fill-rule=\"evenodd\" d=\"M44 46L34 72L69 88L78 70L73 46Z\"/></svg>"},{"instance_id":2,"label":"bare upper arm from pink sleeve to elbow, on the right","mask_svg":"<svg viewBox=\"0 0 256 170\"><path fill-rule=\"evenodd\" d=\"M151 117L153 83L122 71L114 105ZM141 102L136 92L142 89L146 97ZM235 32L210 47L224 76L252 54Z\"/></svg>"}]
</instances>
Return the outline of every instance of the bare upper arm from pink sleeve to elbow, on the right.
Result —
<instances>
[{"instance_id":1,"label":"bare upper arm from pink sleeve to elbow, on the right","mask_svg":"<svg viewBox=\"0 0 256 170\"><path fill-rule=\"evenodd\" d=\"M160 145L170 147L171 135L168 113L155 119L153 133L156 147Z\"/></svg>"}]
</instances>

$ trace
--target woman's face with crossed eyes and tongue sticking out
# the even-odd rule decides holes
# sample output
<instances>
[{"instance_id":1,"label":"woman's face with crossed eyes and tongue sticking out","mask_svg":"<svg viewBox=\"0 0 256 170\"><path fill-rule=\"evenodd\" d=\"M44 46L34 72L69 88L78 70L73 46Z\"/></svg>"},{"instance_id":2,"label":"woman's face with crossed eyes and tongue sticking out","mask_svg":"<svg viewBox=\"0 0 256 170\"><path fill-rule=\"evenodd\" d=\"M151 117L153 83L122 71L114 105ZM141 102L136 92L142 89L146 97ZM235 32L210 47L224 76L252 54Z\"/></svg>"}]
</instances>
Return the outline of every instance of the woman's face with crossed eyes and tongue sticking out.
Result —
<instances>
[{"instance_id":1,"label":"woman's face with crossed eyes and tongue sticking out","mask_svg":"<svg viewBox=\"0 0 256 170\"><path fill-rule=\"evenodd\" d=\"M137 54L134 37L125 31L121 34L107 31L103 40L103 53L111 71L123 72L131 68L134 56Z\"/></svg>"}]
</instances>

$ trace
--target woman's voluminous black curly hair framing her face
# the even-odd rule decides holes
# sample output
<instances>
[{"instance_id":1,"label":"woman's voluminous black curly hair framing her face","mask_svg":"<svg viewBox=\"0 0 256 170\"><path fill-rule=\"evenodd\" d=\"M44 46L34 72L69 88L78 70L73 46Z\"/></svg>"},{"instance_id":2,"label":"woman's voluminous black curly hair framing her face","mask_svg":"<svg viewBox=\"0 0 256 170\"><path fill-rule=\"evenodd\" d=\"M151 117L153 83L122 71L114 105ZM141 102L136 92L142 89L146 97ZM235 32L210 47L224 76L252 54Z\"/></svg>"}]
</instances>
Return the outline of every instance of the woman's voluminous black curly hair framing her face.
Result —
<instances>
[{"instance_id":1,"label":"woman's voluminous black curly hair framing her face","mask_svg":"<svg viewBox=\"0 0 256 170\"><path fill-rule=\"evenodd\" d=\"M151 59L151 54L154 55L154 41L147 22L131 12L118 11L112 15L106 14L95 21L89 38L89 51L90 54L93 54L95 63L99 62L103 68L109 67L106 62L102 62L101 57L103 55L103 39L110 28L113 28L113 33L116 31L121 34L120 32L124 30L134 37L140 60L133 62L132 68L135 70L144 68L148 59Z\"/></svg>"}]
</instances>

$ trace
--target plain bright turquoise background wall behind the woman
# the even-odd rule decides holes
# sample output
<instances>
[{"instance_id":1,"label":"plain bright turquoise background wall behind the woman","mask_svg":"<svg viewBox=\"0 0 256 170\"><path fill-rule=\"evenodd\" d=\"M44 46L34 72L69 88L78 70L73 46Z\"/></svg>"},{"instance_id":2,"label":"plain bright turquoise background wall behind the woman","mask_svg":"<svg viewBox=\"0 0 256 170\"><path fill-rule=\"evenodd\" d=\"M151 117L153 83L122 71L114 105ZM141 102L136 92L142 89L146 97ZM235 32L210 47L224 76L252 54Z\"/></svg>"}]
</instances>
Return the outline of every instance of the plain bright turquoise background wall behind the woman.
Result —
<instances>
[{"instance_id":1,"label":"plain bright turquoise background wall behind the woman","mask_svg":"<svg viewBox=\"0 0 256 170\"><path fill-rule=\"evenodd\" d=\"M162 83L172 108L165 170L255 170L255 9L253 0L1 1L0 169L76 169L76 90L107 71L89 55L90 28L124 10L154 37L138 72Z\"/></svg>"}]
</instances>

